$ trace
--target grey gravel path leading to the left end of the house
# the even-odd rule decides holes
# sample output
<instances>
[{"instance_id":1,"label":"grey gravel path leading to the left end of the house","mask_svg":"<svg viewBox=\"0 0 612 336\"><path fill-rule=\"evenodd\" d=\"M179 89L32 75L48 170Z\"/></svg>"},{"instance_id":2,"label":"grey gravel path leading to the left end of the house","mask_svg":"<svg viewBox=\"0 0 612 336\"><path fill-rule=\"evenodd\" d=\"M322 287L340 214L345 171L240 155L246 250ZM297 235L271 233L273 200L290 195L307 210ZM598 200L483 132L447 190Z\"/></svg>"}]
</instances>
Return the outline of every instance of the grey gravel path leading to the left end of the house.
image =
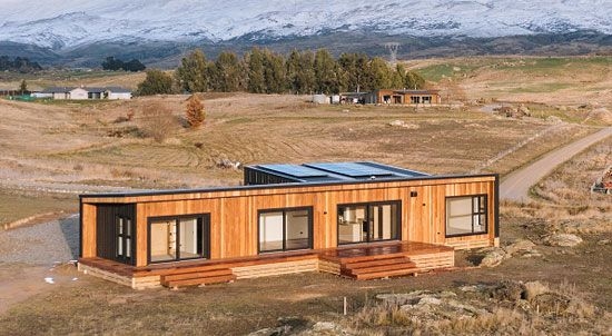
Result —
<instances>
[{"instance_id":1,"label":"grey gravel path leading to the left end of the house","mask_svg":"<svg viewBox=\"0 0 612 336\"><path fill-rule=\"evenodd\" d=\"M0 231L0 263L50 265L79 255L77 214L33 226Z\"/></svg>"}]
</instances>

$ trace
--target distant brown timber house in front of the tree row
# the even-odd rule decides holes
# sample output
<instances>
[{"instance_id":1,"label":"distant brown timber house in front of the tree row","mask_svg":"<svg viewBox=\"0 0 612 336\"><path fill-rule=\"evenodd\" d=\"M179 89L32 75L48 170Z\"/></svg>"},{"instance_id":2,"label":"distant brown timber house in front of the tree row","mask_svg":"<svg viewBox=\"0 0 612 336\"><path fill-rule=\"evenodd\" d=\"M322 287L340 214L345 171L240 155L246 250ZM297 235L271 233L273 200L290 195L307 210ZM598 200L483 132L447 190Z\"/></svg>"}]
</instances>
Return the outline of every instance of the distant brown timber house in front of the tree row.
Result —
<instances>
[{"instance_id":1,"label":"distant brown timber house in front of the tree row","mask_svg":"<svg viewBox=\"0 0 612 336\"><path fill-rule=\"evenodd\" d=\"M376 90L365 95L365 103L436 105L441 103L438 90Z\"/></svg>"}]
</instances>

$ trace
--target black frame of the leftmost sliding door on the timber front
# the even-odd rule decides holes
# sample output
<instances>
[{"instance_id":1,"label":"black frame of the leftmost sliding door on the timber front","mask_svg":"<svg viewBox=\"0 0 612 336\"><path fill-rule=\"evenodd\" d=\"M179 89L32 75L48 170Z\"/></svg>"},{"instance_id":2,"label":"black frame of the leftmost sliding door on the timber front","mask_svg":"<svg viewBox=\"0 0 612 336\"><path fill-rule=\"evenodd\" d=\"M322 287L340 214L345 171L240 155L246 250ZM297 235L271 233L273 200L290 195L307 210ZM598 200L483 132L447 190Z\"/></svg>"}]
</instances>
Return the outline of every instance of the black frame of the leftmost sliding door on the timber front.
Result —
<instances>
[{"instance_id":1,"label":"black frame of the leftmost sliding door on the timber front","mask_svg":"<svg viewBox=\"0 0 612 336\"><path fill-rule=\"evenodd\" d=\"M193 258L181 258L180 257L180 220L181 219L198 219L198 224L201 220L203 226L203 256L201 257L193 257ZM176 258L168 259L168 260L158 260L158 261L151 261L151 225L154 221L164 221L164 220L175 220L176 225ZM177 261L185 261L185 260L207 260L210 259L210 213L205 214L190 214L190 215L177 215L177 216L158 216L158 217L148 217L147 218L147 264L162 264L162 263L177 263Z\"/></svg>"}]
</instances>

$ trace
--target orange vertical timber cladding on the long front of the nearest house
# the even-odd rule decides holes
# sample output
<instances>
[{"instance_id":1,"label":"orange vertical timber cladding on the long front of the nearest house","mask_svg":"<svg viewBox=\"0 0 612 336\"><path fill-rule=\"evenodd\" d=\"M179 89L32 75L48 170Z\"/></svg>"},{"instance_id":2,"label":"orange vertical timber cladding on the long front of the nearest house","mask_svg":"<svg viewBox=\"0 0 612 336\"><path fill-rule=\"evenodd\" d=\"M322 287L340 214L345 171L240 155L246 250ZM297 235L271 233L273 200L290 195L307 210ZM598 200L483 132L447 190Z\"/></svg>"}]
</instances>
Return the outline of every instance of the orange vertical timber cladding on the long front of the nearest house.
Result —
<instances>
[{"instance_id":1,"label":"orange vertical timber cladding on the long front of the nearest house","mask_svg":"<svg viewBox=\"0 0 612 336\"><path fill-rule=\"evenodd\" d=\"M337 205L387 200L402 201L402 240L467 247L488 245L493 244L495 235L494 182L493 176L468 176L376 184L276 185L177 194L97 196L91 201L96 206L105 204L106 199L137 204L136 265L146 266L149 217L210 214L210 258L219 259L257 255L258 210L313 207L313 248L320 249L337 246ZM487 233L446 238L446 197L477 194L487 195ZM87 199L85 201L83 215L89 207ZM87 246L83 246L86 249Z\"/></svg>"}]
</instances>

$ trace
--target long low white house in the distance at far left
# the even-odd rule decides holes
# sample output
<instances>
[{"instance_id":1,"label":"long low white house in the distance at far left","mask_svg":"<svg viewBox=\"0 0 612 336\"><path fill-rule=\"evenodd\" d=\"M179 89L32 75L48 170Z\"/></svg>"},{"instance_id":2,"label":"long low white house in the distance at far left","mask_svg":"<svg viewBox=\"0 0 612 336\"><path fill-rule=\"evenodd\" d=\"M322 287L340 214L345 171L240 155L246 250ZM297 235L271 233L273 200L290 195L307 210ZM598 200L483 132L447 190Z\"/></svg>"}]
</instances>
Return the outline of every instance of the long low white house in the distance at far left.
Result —
<instances>
[{"instance_id":1,"label":"long low white house in the distance at far left","mask_svg":"<svg viewBox=\"0 0 612 336\"><path fill-rule=\"evenodd\" d=\"M50 87L32 95L34 98L52 98L57 100L88 100L88 99L131 99L131 91L120 87L88 88L88 87Z\"/></svg>"}]
</instances>

